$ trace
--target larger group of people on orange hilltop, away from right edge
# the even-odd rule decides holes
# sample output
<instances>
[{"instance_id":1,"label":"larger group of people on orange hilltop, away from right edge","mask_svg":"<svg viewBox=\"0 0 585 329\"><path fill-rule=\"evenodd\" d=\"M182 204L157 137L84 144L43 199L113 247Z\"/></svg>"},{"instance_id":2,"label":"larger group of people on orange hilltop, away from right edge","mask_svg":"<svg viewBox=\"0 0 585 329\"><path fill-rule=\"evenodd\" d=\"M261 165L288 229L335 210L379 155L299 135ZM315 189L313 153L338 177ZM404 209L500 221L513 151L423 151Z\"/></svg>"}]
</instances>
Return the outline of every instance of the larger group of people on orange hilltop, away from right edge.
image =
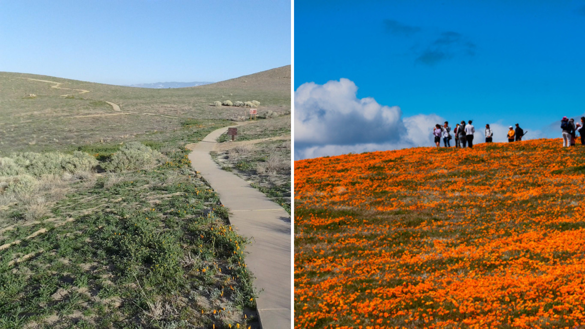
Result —
<instances>
[{"instance_id":1,"label":"larger group of people on orange hilltop, away from right edge","mask_svg":"<svg viewBox=\"0 0 585 329\"><path fill-rule=\"evenodd\" d=\"M585 117L581 118L581 121L585 123ZM583 125L581 125L583 126ZM443 144L446 148L451 147L450 140L453 138L451 136L451 127L449 126L449 122L445 121L445 124L439 125L436 124L435 128L433 129L433 135L435 136L435 145L439 148L441 146L441 139L443 139ZM472 120L461 121L460 124L455 126L453 129L453 133L455 133L455 147L456 148L473 148L473 134L475 133L475 127L472 124ZM585 134L585 131L583 131ZM494 132L491 130L490 125L486 125L486 143L491 143L494 137ZM516 129L510 126L510 131L508 131L508 142L514 142L518 140L522 140L522 136L526 133L518 124L516 124ZM585 136L581 136L581 140L583 140Z\"/></svg>"}]
</instances>

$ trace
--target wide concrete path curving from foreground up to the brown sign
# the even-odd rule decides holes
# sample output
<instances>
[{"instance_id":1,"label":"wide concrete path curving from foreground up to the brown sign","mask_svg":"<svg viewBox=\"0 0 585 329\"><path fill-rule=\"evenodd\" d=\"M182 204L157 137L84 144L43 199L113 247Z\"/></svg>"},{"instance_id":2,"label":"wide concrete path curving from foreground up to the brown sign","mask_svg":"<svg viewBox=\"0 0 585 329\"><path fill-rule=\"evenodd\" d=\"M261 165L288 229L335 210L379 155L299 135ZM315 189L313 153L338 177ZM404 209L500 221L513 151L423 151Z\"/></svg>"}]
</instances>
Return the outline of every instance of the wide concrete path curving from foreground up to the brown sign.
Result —
<instances>
[{"instance_id":1,"label":"wide concrete path curving from foreground up to the brown sign","mask_svg":"<svg viewBox=\"0 0 585 329\"><path fill-rule=\"evenodd\" d=\"M244 124L240 122L239 125ZM233 127L233 126L232 126ZM263 329L291 327L291 220L280 205L273 203L242 178L222 170L209 152L228 127L217 129L201 142L188 145L195 170L219 193L223 205L232 212L229 220L238 233L252 238L246 246L246 264L252 271Z\"/></svg>"}]
</instances>

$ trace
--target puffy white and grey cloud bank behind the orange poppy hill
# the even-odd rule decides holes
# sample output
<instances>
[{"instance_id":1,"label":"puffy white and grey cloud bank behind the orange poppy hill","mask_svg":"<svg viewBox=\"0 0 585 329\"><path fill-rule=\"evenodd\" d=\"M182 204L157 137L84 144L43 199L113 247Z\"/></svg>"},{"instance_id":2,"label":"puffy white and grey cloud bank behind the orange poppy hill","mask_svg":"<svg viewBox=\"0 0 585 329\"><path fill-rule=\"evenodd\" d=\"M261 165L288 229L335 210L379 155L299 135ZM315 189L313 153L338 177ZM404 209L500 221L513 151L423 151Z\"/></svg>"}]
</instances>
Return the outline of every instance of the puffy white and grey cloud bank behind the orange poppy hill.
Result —
<instances>
[{"instance_id":1,"label":"puffy white and grey cloud bank behind the orange poppy hill","mask_svg":"<svg viewBox=\"0 0 585 329\"><path fill-rule=\"evenodd\" d=\"M294 156L297 160L434 146L432 129L445 122L445 118L436 114L402 118L400 107L384 106L370 97L357 98L355 83L343 78L323 85L302 84L294 100ZM455 124L450 123L452 134ZM474 122L474 126L474 142L483 143L485 124ZM509 124L498 121L490 126L494 142L507 142ZM546 133L529 131L525 136L525 139L535 138L546 138ZM451 145L455 146L455 140Z\"/></svg>"}]
</instances>

